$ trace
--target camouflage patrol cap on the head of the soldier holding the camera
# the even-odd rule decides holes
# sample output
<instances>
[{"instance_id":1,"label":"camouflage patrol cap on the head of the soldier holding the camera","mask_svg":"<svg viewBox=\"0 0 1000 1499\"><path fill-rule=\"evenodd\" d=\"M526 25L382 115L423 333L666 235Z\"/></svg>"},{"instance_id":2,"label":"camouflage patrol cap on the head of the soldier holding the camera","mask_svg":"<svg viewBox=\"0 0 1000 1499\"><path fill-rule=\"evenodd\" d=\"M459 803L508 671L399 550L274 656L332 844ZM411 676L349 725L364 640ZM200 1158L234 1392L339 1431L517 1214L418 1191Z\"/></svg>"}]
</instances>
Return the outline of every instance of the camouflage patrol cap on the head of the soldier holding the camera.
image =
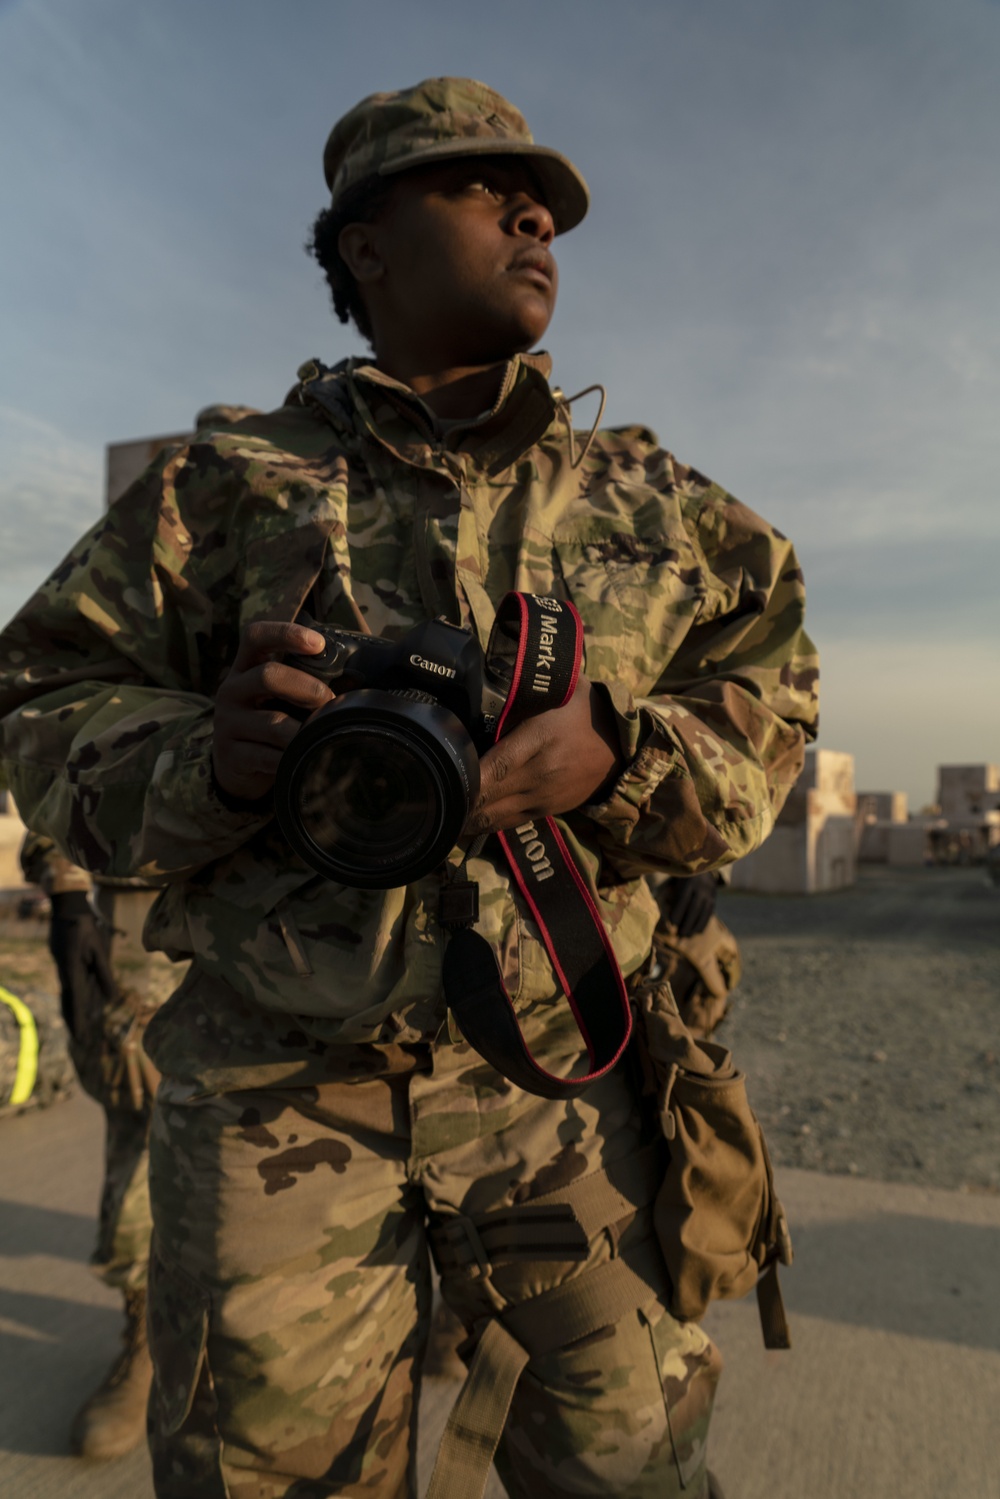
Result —
<instances>
[{"instance_id":1,"label":"camouflage patrol cap on the head of the soldier holding the camera","mask_svg":"<svg viewBox=\"0 0 1000 1499\"><path fill-rule=\"evenodd\" d=\"M576 228L591 193L573 162L535 145L528 121L502 94L474 78L427 78L412 88L369 94L337 120L322 168L331 207L370 177L460 156L528 156L556 234Z\"/></svg>"}]
</instances>

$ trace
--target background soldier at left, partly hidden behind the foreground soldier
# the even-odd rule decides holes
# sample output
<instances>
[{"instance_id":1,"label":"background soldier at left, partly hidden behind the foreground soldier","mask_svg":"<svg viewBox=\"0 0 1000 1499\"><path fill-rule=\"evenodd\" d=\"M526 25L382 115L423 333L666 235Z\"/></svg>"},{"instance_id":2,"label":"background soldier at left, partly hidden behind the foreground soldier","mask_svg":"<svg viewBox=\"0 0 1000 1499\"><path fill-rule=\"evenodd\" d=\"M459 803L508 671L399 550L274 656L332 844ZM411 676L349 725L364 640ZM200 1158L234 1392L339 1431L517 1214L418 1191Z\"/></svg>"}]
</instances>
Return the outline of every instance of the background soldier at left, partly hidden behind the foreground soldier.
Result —
<instances>
[{"instance_id":1,"label":"background soldier at left, partly hidden behind the foreground soldier","mask_svg":"<svg viewBox=\"0 0 1000 1499\"><path fill-rule=\"evenodd\" d=\"M156 889L139 880L102 877L94 889L90 875L60 854L51 838L31 832L21 848L21 868L51 901L49 947L69 1051L82 1087L105 1114L103 1187L90 1264L124 1298L121 1352L73 1417L70 1447L79 1457L120 1457L145 1435L153 1378L145 1340L153 1232L148 1129L159 1076L142 1039L187 965L142 946Z\"/></svg>"}]
</instances>

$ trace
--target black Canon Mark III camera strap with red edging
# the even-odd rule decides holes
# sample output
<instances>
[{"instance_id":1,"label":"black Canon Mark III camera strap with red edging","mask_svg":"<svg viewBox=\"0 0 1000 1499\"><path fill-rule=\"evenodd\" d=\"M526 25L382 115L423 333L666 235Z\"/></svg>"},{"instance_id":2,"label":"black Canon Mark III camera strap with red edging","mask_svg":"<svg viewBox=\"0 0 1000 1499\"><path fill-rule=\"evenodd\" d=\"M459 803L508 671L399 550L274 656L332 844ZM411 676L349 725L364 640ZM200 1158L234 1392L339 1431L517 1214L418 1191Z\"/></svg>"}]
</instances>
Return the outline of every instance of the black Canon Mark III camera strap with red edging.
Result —
<instances>
[{"instance_id":1,"label":"black Canon Mark III camera strap with red edging","mask_svg":"<svg viewBox=\"0 0 1000 1499\"><path fill-rule=\"evenodd\" d=\"M496 612L486 658L489 672L508 688L493 736L496 744L534 714L570 700L583 658L583 622L568 601L507 594ZM475 887L462 881L442 892L439 922L450 932L442 974L445 997L462 1034L492 1067L526 1093L571 1099L610 1072L628 1045L631 1010L625 980L556 820L540 817L495 836L538 923L583 1037L586 1073L561 1078L531 1054L498 956L472 929Z\"/></svg>"}]
</instances>

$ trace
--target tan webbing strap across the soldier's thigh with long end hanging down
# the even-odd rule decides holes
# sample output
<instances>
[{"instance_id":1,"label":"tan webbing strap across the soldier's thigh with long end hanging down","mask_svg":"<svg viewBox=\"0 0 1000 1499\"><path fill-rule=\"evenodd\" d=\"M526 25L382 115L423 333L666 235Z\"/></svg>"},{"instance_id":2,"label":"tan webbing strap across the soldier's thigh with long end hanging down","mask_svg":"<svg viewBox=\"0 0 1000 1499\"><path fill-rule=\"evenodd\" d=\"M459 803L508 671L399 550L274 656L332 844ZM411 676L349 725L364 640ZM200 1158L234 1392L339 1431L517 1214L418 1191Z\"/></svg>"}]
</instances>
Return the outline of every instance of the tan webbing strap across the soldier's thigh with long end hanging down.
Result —
<instances>
[{"instance_id":1,"label":"tan webbing strap across the soldier's thigh with long end hanging down","mask_svg":"<svg viewBox=\"0 0 1000 1499\"><path fill-rule=\"evenodd\" d=\"M529 1360L600 1333L660 1295L654 1250L610 1259L489 1319L441 1439L427 1499L481 1499Z\"/></svg>"}]
</instances>

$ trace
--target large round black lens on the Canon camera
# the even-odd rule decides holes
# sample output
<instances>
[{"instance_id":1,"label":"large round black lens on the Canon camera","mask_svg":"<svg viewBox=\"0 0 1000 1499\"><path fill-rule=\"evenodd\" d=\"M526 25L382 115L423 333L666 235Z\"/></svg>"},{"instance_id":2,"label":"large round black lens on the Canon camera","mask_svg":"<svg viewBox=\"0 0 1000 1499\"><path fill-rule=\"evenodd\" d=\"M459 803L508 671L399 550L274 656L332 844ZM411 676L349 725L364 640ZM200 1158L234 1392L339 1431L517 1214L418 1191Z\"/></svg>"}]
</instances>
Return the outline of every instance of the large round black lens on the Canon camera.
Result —
<instances>
[{"instance_id":1,"label":"large round black lens on the Canon camera","mask_svg":"<svg viewBox=\"0 0 1000 1499\"><path fill-rule=\"evenodd\" d=\"M277 767L274 812L318 874L388 890L441 863L478 791L478 755L454 714L423 693L361 688L298 730Z\"/></svg>"}]
</instances>

